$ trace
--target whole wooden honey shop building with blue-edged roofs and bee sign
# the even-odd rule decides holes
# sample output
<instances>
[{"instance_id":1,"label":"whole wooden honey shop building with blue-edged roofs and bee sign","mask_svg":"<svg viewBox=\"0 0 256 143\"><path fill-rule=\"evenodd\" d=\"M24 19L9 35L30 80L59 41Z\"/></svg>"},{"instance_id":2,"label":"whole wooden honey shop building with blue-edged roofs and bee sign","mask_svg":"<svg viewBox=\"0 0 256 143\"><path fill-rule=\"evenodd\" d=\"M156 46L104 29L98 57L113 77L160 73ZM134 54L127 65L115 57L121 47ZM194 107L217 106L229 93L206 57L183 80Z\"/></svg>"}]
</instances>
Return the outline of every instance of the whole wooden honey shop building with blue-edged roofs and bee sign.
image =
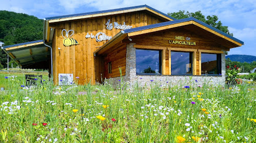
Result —
<instances>
[{"instance_id":1,"label":"whole wooden honey shop building with blue-edged roofs and bee sign","mask_svg":"<svg viewBox=\"0 0 256 143\"><path fill-rule=\"evenodd\" d=\"M225 51L243 42L193 17L177 20L146 5L44 19L44 39L5 46L24 68L49 67L78 83L123 79L225 81ZM39 63L39 64L38 64ZM121 73L120 73L121 72ZM205 76L207 75L207 76ZM178 81L175 81L178 82Z\"/></svg>"}]
</instances>

